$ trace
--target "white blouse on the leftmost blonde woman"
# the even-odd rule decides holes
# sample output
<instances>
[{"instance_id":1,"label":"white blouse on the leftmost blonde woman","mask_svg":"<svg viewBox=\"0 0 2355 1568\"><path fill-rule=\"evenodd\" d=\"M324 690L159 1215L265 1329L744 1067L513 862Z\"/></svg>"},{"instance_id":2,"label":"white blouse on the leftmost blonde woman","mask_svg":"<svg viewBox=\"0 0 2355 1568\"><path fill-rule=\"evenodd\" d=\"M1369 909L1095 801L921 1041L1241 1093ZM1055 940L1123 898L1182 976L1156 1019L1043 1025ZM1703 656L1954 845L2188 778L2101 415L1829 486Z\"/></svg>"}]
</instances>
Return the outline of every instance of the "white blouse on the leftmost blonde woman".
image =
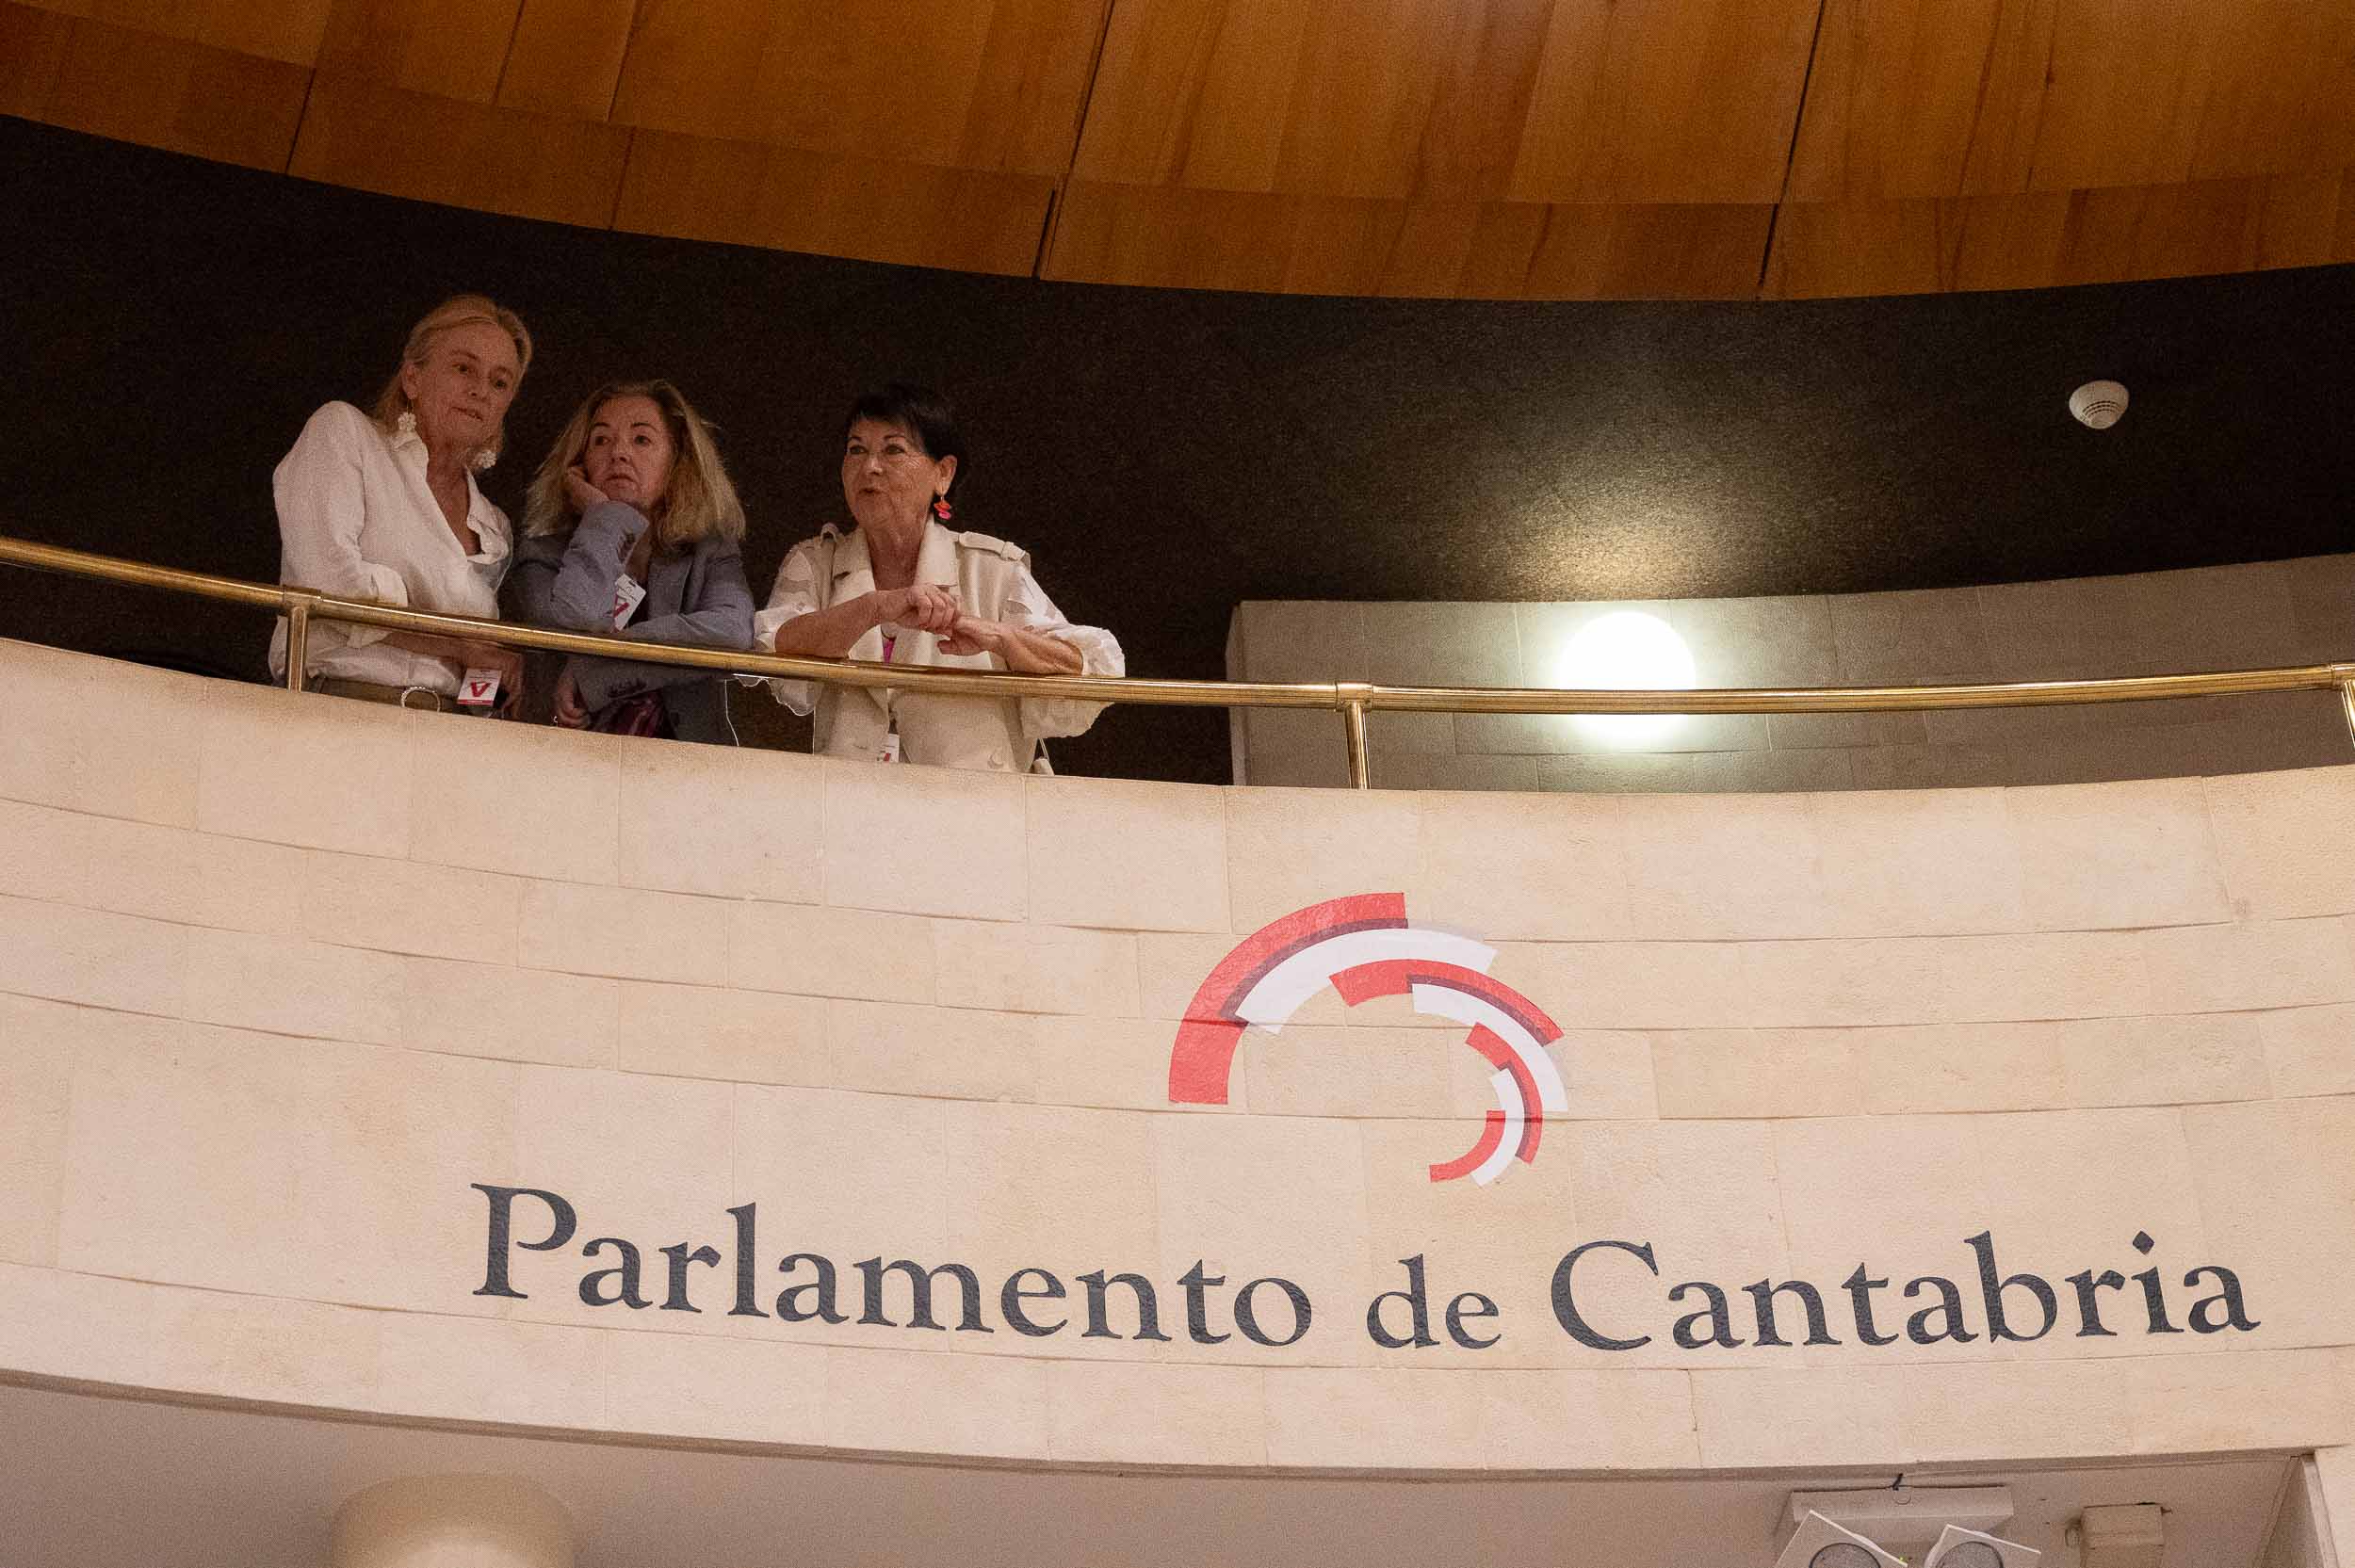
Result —
<instances>
[{"instance_id":1,"label":"white blouse on the leftmost blonde woman","mask_svg":"<svg viewBox=\"0 0 2355 1568\"><path fill-rule=\"evenodd\" d=\"M278 582L379 605L497 619L499 582L513 563L506 513L466 476L466 523L480 549L466 553L426 483L426 443L386 436L349 403L330 403L304 424L271 476L278 499ZM309 676L414 685L457 695L447 659L386 647L377 626L311 622ZM285 678L287 629L271 636L271 673Z\"/></svg>"}]
</instances>

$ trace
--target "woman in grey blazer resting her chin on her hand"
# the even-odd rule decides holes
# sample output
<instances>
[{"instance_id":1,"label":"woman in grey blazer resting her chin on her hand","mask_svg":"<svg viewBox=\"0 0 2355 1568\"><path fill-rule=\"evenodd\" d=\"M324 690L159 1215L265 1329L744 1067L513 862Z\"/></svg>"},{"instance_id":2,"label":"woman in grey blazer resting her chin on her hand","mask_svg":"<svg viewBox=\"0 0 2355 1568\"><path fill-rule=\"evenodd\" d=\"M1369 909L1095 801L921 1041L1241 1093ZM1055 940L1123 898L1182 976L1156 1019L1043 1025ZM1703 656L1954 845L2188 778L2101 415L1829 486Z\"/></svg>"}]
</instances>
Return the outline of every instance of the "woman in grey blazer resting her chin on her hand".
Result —
<instances>
[{"instance_id":1,"label":"woman in grey blazer resting her chin on her hand","mask_svg":"<svg viewBox=\"0 0 2355 1568\"><path fill-rule=\"evenodd\" d=\"M523 619L641 643L751 647L744 504L711 426L669 381L589 393L532 478L523 532ZM723 680L678 664L575 657L553 680L549 718L725 746L735 727Z\"/></svg>"}]
</instances>

